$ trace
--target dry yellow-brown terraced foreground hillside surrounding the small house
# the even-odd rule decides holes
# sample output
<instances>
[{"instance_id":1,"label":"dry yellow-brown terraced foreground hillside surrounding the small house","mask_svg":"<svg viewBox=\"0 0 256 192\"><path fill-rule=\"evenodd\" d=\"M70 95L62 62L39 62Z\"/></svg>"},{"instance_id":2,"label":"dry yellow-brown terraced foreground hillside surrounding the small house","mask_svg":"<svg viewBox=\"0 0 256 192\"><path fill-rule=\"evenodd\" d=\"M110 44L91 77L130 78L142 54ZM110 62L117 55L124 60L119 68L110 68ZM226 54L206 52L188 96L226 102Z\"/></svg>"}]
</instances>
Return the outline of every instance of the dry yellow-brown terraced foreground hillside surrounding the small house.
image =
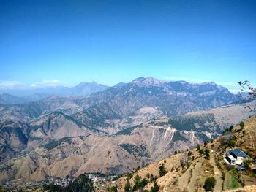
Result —
<instances>
[{"instance_id":1,"label":"dry yellow-brown terraced foreground hillside surrounding the small house","mask_svg":"<svg viewBox=\"0 0 256 192\"><path fill-rule=\"evenodd\" d=\"M201 145L200 150L192 149L171 155L135 170L131 174L124 175L112 185L116 185L118 191L121 191L124 190L127 178L131 186L135 185L136 180L138 183L138 178L140 178L140 181L143 179L147 181L144 180L146 183L143 186L144 191L151 190L154 180L159 186L159 191L205 191L204 181L207 177L214 177L216 179L214 191L233 191L235 188L252 191L256 189L255 173L251 169L238 172L233 167L226 166L223 158L225 152L233 147L239 147L250 156L252 161L255 161L255 146L256 116L249 118L239 126L227 128L221 137ZM203 153L206 150L209 152L208 158L206 158L206 153ZM162 177L159 176L161 165L164 166L166 172Z\"/></svg>"}]
</instances>

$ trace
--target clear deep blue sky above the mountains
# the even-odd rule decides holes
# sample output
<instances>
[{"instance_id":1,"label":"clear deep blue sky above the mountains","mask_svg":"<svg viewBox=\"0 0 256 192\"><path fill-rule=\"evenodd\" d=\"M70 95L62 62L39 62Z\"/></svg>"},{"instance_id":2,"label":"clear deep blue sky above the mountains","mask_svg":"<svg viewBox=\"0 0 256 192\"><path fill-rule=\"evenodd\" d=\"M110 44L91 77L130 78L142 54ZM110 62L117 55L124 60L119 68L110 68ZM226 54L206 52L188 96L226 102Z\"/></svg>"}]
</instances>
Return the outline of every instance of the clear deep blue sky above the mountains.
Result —
<instances>
[{"instance_id":1,"label":"clear deep blue sky above the mountains","mask_svg":"<svg viewBox=\"0 0 256 192\"><path fill-rule=\"evenodd\" d=\"M256 1L0 0L0 86L256 82Z\"/></svg>"}]
</instances>

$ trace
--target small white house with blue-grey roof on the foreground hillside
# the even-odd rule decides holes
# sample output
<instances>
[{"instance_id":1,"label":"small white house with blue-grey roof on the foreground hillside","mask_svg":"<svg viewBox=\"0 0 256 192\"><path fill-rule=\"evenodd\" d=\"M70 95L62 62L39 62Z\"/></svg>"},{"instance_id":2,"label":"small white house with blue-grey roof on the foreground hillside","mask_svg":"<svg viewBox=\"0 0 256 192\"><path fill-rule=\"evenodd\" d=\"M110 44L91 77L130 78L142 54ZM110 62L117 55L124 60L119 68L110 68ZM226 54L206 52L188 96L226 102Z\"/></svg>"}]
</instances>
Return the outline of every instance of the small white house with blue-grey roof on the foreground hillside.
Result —
<instances>
[{"instance_id":1,"label":"small white house with blue-grey roof on the foreground hillside","mask_svg":"<svg viewBox=\"0 0 256 192\"><path fill-rule=\"evenodd\" d=\"M244 151L236 148L228 151L225 154L225 162L230 165L241 165L245 159L248 159L249 156L244 153Z\"/></svg>"}]
</instances>

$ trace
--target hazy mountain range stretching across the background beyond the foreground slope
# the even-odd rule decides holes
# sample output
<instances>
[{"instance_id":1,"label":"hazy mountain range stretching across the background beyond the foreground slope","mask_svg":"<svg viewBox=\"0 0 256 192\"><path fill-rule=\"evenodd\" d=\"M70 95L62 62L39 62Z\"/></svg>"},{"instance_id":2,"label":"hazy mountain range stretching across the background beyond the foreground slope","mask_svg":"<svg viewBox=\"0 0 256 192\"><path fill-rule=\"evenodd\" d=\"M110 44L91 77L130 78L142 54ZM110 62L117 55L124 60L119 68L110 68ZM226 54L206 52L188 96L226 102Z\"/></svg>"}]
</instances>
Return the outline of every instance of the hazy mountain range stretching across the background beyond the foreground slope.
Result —
<instances>
[{"instance_id":1,"label":"hazy mountain range stretching across the background beyond the foreground slope","mask_svg":"<svg viewBox=\"0 0 256 192\"><path fill-rule=\"evenodd\" d=\"M1 183L121 174L195 147L255 115L248 103L214 82L140 77L102 91L85 83L75 88L80 91L72 96L1 100ZM82 92L86 95L75 96Z\"/></svg>"}]
</instances>

